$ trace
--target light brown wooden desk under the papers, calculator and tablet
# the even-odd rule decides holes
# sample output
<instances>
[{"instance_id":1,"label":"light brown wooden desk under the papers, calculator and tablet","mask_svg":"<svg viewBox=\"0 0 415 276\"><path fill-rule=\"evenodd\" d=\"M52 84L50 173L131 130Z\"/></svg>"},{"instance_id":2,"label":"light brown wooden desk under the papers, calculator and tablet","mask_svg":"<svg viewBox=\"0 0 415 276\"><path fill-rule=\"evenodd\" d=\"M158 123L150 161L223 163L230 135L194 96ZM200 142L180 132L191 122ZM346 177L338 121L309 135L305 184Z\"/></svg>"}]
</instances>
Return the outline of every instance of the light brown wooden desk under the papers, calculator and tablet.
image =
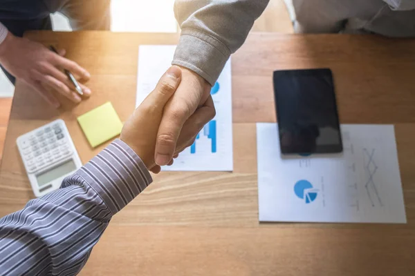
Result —
<instances>
[{"instance_id":1,"label":"light brown wooden desk under the papers, calculator and tablet","mask_svg":"<svg viewBox=\"0 0 415 276\"><path fill-rule=\"evenodd\" d=\"M138 45L173 34L35 32L58 43L92 75L91 99L48 108L17 85L0 170L0 216L33 195L17 136L62 118L83 162L91 150L76 117L112 101L134 108ZM395 124L408 224L259 224L255 122L275 121L273 70L329 67L340 119ZM351 35L251 34L232 57L234 172L170 172L120 212L82 275L414 275L415 40Z\"/></svg>"}]
</instances>

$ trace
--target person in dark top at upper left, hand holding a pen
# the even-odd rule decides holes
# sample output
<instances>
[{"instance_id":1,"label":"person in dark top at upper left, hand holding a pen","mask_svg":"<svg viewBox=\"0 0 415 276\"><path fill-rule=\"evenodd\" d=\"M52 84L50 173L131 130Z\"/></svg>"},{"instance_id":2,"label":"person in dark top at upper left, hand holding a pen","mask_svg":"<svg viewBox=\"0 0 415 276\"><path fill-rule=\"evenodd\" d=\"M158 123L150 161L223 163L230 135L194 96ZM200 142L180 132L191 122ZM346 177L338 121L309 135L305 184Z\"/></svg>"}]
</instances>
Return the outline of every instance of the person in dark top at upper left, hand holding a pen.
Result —
<instances>
[{"instance_id":1,"label":"person in dark top at upper left, hand holding a pen","mask_svg":"<svg viewBox=\"0 0 415 276\"><path fill-rule=\"evenodd\" d=\"M21 36L26 30L51 30L53 12L65 14L73 30L109 30L109 5L110 0L0 0L0 66L12 83L15 78L24 81L56 108L60 106L56 93L80 102L62 69L82 81L89 80L89 72L66 59L65 50L55 54ZM82 84L81 88L86 97L91 95L89 88Z\"/></svg>"}]
</instances>

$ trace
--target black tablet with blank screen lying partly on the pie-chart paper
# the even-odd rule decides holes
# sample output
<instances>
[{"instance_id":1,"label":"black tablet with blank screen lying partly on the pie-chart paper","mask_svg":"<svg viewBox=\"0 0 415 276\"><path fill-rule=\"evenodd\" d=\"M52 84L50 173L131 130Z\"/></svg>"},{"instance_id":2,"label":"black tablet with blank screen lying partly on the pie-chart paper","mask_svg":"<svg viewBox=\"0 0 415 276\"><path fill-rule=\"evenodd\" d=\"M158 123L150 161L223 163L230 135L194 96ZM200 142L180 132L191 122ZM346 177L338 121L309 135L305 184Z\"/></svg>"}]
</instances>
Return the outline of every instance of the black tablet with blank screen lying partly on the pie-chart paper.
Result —
<instances>
[{"instance_id":1,"label":"black tablet with blank screen lying partly on the pie-chart paper","mask_svg":"<svg viewBox=\"0 0 415 276\"><path fill-rule=\"evenodd\" d=\"M274 93L282 154L342 152L330 69L275 71Z\"/></svg>"}]
</instances>

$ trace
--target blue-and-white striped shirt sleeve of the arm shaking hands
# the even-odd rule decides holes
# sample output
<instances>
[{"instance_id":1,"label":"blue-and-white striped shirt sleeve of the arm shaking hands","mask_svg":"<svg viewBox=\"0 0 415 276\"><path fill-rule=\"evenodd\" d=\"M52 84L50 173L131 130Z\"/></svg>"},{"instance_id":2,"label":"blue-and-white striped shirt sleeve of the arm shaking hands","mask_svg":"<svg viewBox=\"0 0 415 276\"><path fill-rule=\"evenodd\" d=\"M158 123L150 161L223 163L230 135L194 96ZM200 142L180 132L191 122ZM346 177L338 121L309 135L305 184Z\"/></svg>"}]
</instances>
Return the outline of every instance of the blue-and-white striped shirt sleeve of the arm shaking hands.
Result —
<instances>
[{"instance_id":1,"label":"blue-and-white striped shirt sleeve of the arm shaking hands","mask_svg":"<svg viewBox=\"0 0 415 276\"><path fill-rule=\"evenodd\" d=\"M111 217L151 181L138 155L113 141L59 190L0 219L0 274L76 275Z\"/></svg>"}]
</instances>

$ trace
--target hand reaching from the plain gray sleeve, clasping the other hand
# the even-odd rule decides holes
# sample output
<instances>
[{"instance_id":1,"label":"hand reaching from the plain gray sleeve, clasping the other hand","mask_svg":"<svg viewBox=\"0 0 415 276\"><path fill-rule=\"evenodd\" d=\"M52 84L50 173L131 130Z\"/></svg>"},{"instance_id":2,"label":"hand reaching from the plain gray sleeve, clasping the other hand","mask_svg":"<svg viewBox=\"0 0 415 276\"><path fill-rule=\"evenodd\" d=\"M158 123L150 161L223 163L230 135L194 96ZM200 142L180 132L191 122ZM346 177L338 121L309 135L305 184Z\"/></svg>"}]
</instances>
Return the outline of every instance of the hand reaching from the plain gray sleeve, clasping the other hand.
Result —
<instances>
[{"instance_id":1,"label":"hand reaching from the plain gray sleeve, clasping the other hand","mask_svg":"<svg viewBox=\"0 0 415 276\"><path fill-rule=\"evenodd\" d=\"M215 115L210 84L192 70L181 70L180 86L167 103L158 128L154 158L159 166L169 164L172 157L184 149L177 147L179 136L181 146L190 146L201 128ZM185 133L181 135L184 125Z\"/></svg>"}]
</instances>

